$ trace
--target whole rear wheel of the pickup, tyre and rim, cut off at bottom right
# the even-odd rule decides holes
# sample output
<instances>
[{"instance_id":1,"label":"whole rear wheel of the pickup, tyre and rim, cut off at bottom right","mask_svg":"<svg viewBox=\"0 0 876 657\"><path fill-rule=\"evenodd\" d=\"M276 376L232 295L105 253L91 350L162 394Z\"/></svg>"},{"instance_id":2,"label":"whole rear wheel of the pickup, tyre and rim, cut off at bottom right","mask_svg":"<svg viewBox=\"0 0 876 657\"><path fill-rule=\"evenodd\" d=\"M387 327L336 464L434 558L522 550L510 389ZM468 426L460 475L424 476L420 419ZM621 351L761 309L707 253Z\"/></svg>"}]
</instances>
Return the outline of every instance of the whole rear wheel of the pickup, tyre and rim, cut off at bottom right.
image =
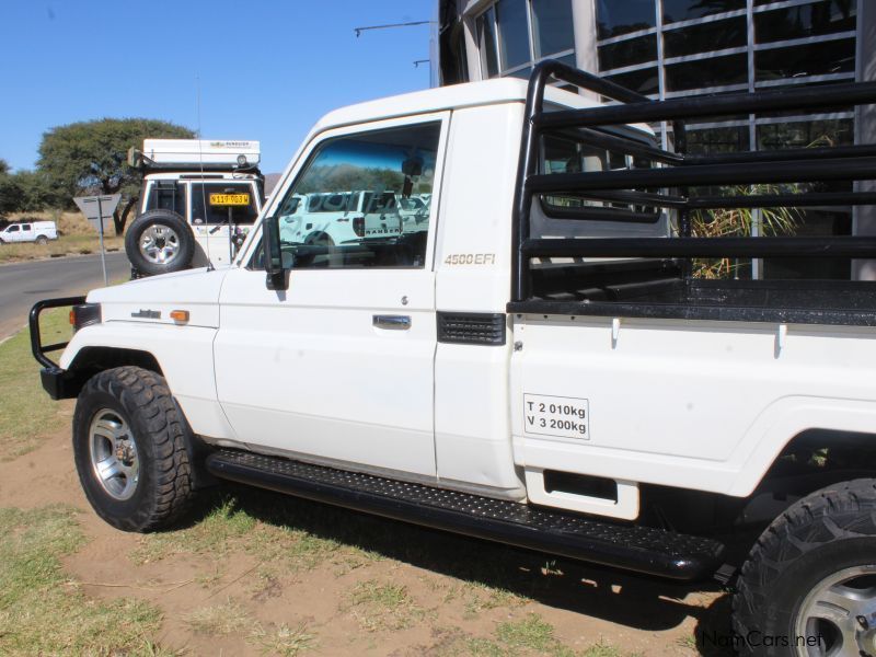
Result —
<instances>
[{"instance_id":1,"label":"whole rear wheel of the pickup, tyre and rim, cut off at bottom right","mask_svg":"<svg viewBox=\"0 0 876 657\"><path fill-rule=\"evenodd\" d=\"M876 480L825 488L774 520L733 606L742 654L876 657Z\"/></svg>"}]
</instances>

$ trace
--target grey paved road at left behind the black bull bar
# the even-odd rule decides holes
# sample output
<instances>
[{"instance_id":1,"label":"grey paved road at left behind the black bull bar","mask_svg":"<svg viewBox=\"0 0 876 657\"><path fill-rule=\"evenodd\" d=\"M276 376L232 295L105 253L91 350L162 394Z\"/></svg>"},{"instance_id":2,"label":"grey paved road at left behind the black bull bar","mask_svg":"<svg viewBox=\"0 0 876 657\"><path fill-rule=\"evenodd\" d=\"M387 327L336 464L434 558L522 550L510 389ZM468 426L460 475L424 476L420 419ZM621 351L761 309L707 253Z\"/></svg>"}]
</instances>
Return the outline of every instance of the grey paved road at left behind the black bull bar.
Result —
<instances>
[{"instance_id":1,"label":"grey paved road at left behind the black bull bar","mask_svg":"<svg viewBox=\"0 0 876 657\"><path fill-rule=\"evenodd\" d=\"M130 275L124 253L106 254L110 281ZM103 287L100 255L28 261L0 266L0 339L27 323L27 312L39 299L85 293Z\"/></svg>"}]
</instances>

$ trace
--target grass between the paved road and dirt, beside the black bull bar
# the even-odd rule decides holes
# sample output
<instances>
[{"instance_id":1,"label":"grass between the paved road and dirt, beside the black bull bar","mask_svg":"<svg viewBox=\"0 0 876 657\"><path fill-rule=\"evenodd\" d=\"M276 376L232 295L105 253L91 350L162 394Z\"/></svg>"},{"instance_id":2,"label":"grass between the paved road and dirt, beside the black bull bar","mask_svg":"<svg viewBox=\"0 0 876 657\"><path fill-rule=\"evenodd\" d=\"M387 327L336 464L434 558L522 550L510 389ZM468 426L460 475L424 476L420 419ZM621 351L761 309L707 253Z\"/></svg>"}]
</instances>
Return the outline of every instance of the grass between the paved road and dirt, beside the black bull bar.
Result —
<instances>
[{"instance_id":1,"label":"grass between the paved road and dirt, beside the black bull bar","mask_svg":"<svg viewBox=\"0 0 876 657\"><path fill-rule=\"evenodd\" d=\"M43 344L70 339L67 310L43 313ZM0 344L0 460L9 461L36 449L39 438L70 422L72 404L49 399L39 382L39 366L31 353L30 332L19 331Z\"/></svg>"}]
</instances>

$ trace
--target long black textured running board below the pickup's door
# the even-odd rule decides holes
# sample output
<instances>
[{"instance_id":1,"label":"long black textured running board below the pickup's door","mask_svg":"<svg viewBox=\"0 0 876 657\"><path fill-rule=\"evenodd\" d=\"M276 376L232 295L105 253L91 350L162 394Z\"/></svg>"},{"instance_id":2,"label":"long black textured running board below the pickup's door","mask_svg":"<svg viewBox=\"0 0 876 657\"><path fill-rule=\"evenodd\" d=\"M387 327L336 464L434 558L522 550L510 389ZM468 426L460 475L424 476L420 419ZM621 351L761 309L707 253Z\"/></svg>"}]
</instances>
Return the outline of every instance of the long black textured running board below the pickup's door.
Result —
<instances>
[{"instance_id":1,"label":"long black textured running board below the pickup's door","mask_svg":"<svg viewBox=\"0 0 876 657\"><path fill-rule=\"evenodd\" d=\"M724 552L712 539L244 451L216 451L207 469L315 502L672 579L713 575Z\"/></svg>"}]
</instances>

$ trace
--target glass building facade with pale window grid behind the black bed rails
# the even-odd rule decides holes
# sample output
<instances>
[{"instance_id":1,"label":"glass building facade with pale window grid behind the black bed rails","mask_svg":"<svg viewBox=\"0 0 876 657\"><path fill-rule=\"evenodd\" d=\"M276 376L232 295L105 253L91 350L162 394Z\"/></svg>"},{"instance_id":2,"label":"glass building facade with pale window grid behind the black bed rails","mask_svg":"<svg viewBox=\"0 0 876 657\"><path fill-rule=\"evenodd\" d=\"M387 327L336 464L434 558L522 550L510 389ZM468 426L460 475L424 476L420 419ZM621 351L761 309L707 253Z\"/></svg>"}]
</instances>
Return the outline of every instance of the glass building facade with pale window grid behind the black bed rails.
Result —
<instances>
[{"instance_id":1,"label":"glass building facade with pale window grid behind the black bed rails","mask_svg":"<svg viewBox=\"0 0 876 657\"><path fill-rule=\"evenodd\" d=\"M873 79L876 31L862 22L873 5L876 0L445 0L442 82L527 77L545 58L654 99ZM655 128L671 147L670 127ZM853 107L726 116L688 130L691 152L850 145L860 135ZM854 230L851 208L812 209L797 233ZM753 275L848 278L851 263L756 263Z\"/></svg>"}]
</instances>

